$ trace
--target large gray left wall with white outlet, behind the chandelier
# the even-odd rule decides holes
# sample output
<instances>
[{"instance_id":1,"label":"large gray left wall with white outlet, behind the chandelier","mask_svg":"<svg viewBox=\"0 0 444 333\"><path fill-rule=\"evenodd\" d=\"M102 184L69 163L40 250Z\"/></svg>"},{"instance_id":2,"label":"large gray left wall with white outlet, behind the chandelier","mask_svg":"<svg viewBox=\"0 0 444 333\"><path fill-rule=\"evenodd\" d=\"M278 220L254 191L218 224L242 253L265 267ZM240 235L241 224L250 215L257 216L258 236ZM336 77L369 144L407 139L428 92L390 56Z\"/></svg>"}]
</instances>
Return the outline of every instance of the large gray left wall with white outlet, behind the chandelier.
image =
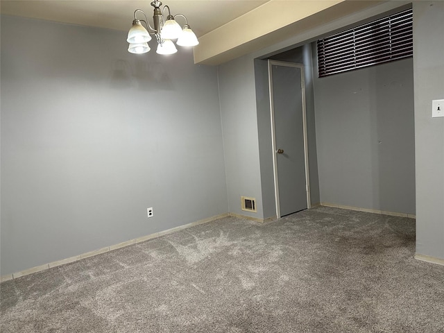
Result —
<instances>
[{"instance_id":1,"label":"large gray left wall with white outlet, behind the chandelier","mask_svg":"<svg viewBox=\"0 0 444 333\"><path fill-rule=\"evenodd\" d=\"M217 68L125 40L1 17L1 275L228 212Z\"/></svg>"}]
</instances>

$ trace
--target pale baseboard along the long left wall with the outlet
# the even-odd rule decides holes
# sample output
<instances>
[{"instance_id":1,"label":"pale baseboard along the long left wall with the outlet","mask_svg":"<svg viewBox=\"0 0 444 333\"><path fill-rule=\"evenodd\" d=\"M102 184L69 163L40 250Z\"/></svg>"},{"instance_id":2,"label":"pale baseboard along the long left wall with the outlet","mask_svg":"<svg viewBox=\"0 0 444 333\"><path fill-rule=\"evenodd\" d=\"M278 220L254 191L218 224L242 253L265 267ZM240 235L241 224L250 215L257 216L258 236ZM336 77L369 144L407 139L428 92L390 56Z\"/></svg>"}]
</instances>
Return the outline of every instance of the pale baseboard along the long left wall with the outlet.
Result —
<instances>
[{"instance_id":1,"label":"pale baseboard along the long left wall with the outlet","mask_svg":"<svg viewBox=\"0 0 444 333\"><path fill-rule=\"evenodd\" d=\"M168 229L168 230L163 230L163 231L160 231L160 232L155 232L153 234L147 234L146 236L143 236L143 237L139 237L139 238L135 238L135 239L130 239L129 241L123 241L122 243L119 243L119 244L114 244L112 246L106 246L105 248L99 248L99 249L94 250L94 251L83 253L82 255L76 255L74 257L58 260L56 262L50 262L49 264L35 266L33 268L28 268L28 269L25 269L24 271L19 271L17 273L1 275L0 282L5 282L5 281L8 281L8 280L13 280L13 279L16 279L16 278L20 278L21 276L24 276L24 275L29 275L29 274L33 274L33 273L37 273L37 272L41 272L41 271L46 271L46 269L49 269L49 268L53 268L53 267L61 266L61 265L65 265L65 264L69 264L71 262L76 262L78 260L89 258L89 257L94 257L94 255L101 255L102 253L107 253L107 252L110 252L112 250L117 250L118 248L124 248L126 246L130 246L130 245L133 245L133 244L142 243L142 241L148 241L148 239L153 239L153 238L157 238L157 237L160 237L160 236L164 236L165 234L172 234L173 232L178 232L180 230L185 230L187 228L194 227L195 225L200 225L200 224L216 221L218 219L222 219L223 217L227 217L227 216L230 216L230 213L224 213L224 214L219 214L219 215L211 216L211 217L208 217L207 219L202 219L202 220L198 220L198 221L195 221L195 222L187 223L185 225L180 225L180 226L178 226L176 228L171 228L171 229Z\"/></svg>"}]
</instances>

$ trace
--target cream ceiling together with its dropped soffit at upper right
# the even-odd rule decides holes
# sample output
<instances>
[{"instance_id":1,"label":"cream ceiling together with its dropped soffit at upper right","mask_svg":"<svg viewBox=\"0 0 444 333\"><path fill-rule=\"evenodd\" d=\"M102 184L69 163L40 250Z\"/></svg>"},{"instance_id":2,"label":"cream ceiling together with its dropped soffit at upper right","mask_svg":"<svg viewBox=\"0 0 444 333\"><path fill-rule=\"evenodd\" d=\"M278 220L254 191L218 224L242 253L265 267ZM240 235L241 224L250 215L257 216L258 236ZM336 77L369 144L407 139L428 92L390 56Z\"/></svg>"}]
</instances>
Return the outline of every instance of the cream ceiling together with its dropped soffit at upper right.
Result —
<instances>
[{"instance_id":1,"label":"cream ceiling together with its dropped soffit at upper right","mask_svg":"<svg viewBox=\"0 0 444 333\"><path fill-rule=\"evenodd\" d=\"M183 14L200 44L194 62L220 65L239 56L324 26L354 12L406 0L165 0L171 14ZM151 0L0 0L3 15L128 31L134 11L152 22ZM140 18L138 16L138 18ZM178 18L180 22L182 18Z\"/></svg>"}]
</instances>

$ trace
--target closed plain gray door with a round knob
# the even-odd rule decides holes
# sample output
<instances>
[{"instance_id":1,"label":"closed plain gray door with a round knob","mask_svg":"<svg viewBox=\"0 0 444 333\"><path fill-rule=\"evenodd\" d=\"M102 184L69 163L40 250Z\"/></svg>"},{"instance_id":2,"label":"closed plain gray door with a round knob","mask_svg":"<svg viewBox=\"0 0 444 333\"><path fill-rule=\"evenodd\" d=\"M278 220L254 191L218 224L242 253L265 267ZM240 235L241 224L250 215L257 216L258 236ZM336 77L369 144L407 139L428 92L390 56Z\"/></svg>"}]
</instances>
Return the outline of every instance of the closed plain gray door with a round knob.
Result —
<instances>
[{"instance_id":1,"label":"closed plain gray door with a round knob","mask_svg":"<svg viewBox=\"0 0 444 333\"><path fill-rule=\"evenodd\" d=\"M305 210L309 206L303 67L274 61L270 61L269 66L277 211L278 215L284 216Z\"/></svg>"}]
</instances>

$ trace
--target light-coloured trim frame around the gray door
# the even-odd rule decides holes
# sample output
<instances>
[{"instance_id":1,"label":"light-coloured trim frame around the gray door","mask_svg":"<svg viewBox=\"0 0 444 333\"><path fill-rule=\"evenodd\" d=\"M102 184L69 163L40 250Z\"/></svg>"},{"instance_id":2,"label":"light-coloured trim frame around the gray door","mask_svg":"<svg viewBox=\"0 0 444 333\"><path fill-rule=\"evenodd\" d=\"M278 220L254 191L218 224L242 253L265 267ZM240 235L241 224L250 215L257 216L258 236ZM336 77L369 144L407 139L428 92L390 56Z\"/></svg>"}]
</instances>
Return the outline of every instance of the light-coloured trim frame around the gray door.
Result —
<instances>
[{"instance_id":1,"label":"light-coloured trim frame around the gray door","mask_svg":"<svg viewBox=\"0 0 444 333\"><path fill-rule=\"evenodd\" d=\"M305 108L305 76L304 65L296 62L286 62L279 60L268 60L268 91L270 93L270 112L271 112L271 142L273 147L273 173L275 182L275 203L276 216L280 216L280 200L279 200L279 178L278 178L278 147L276 147L276 129L275 129L275 110L273 100L273 65L284 67L296 67L300 69L301 95L302 95L302 130L304 135L304 158L305 158L305 192L307 193L307 208L311 208L310 200L310 182L309 182L309 165L308 165L308 137L307 137L307 112Z\"/></svg>"}]
</instances>

